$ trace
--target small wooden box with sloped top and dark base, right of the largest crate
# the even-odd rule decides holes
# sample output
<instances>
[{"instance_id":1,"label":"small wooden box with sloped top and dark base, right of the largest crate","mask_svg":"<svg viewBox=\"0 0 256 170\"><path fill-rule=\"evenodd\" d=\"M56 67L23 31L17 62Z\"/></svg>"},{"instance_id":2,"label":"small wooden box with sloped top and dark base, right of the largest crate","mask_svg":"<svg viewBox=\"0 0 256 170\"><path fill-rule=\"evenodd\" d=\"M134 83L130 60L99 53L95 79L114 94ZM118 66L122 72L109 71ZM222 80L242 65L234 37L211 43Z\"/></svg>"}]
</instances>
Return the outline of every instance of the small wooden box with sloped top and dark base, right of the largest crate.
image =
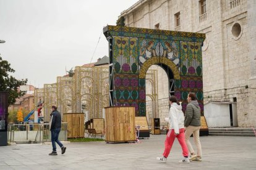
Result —
<instances>
[{"instance_id":1,"label":"small wooden box with sloped top and dark base, right of the largest crate","mask_svg":"<svg viewBox=\"0 0 256 170\"><path fill-rule=\"evenodd\" d=\"M146 116L135 116L135 126L140 126L139 138L150 137L150 130L148 128L148 120Z\"/></svg>"}]
</instances>

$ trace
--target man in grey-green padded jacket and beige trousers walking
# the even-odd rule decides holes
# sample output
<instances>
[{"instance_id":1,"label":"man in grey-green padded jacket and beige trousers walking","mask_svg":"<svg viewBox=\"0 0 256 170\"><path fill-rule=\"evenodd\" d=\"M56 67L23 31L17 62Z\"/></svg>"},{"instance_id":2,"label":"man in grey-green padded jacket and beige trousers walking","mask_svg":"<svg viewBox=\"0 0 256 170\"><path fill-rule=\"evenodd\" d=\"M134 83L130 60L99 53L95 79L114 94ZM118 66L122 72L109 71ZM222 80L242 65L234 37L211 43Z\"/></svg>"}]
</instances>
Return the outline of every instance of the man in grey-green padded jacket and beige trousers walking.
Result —
<instances>
[{"instance_id":1,"label":"man in grey-green padded jacket and beige trousers walking","mask_svg":"<svg viewBox=\"0 0 256 170\"><path fill-rule=\"evenodd\" d=\"M194 92L190 92L187 97L187 105L186 115L185 115L185 139L187 147L189 148L189 152L191 155L190 160L192 161L202 161L202 148L199 139L199 131L201 126L201 113L200 107L196 100L196 96ZM193 134L195 145L197 146L197 155L195 154L192 145L189 142L189 138Z\"/></svg>"}]
</instances>

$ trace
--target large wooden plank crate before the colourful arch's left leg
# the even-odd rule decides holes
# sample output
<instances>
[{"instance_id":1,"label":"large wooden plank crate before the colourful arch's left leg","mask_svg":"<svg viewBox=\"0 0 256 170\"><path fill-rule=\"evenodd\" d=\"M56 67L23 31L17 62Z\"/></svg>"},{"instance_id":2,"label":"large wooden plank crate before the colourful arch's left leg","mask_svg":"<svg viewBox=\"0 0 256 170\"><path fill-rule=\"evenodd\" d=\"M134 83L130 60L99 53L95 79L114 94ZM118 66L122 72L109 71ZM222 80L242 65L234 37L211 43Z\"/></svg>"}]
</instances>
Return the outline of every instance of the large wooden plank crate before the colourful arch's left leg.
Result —
<instances>
[{"instance_id":1,"label":"large wooden plank crate before the colourful arch's left leg","mask_svg":"<svg viewBox=\"0 0 256 170\"><path fill-rule=\"evenodd\" d=\"M106 142L135 142L135 108L106 107Z\"/></svg>"}]
</instances>

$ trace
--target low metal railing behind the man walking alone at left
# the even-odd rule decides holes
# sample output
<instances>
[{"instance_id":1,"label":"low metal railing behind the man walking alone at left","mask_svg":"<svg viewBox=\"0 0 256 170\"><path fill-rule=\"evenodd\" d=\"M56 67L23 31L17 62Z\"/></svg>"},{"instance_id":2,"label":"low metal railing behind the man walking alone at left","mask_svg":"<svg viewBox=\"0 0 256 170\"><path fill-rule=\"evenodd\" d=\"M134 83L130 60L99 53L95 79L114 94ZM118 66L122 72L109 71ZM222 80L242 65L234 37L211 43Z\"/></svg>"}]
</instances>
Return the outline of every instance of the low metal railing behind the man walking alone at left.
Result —
<instances>
[{"instance_id":1,"label":"low metal railing behind the man walking alone at left","mask_svg":"<svg viewBox=\"0 0 256 170\"><path fill-rule=\"evenodd\" d=\"M8 142L41 144L51 141L50 124L8 124ZM61 123L59 140L67 140L67 123Z\"/></svg>"}]
</instances>

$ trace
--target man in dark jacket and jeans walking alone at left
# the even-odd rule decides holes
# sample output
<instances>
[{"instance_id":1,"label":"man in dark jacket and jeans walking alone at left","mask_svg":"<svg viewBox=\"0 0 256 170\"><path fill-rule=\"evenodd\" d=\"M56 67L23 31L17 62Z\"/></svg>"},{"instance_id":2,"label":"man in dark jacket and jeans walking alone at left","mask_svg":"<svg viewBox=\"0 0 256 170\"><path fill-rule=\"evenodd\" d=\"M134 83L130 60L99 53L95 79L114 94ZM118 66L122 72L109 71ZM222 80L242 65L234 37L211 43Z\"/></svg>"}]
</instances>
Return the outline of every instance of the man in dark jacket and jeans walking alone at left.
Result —
<instances>
[{"instance_id":1,"label":"man in dark jacket and jeans walking alone at left","mask_svg":"<svg viewBox=\"0 0 256 170\"><path fill-rule=\"evenodd\" d=\"M56 143L61 147L61 154L66 152L66 147L59 141L59 132L61 131L61 113L57 110L56 105L51 107L51 144L53 145L53 152L49 155L58 155L56 151Z\"/></svg>"}]
</instances>

